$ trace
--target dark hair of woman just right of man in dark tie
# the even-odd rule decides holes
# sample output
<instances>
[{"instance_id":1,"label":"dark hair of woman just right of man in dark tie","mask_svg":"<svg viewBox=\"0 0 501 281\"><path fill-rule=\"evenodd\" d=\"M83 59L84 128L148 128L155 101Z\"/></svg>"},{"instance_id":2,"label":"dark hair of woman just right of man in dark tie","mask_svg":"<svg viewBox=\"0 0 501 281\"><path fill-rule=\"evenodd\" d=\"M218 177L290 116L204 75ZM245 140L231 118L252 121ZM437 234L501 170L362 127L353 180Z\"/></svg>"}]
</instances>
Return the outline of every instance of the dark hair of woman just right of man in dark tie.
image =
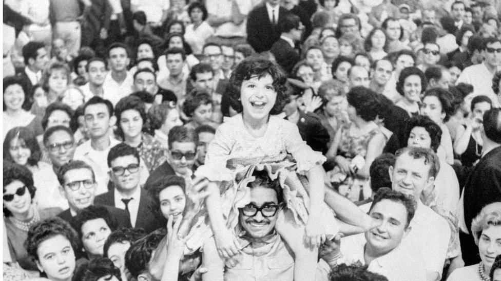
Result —
<instances>
[{"instance_id":1,"label":"dark hair of woman just right of man in dark tie","mask_svg":"<svg viewBox=\"0 0 501 281\"><path fill-rule=\"evenodd\" d=\"M186 193L186 183L183 178L176 175L163 176L155 181L148 183L144 189L148 190L149 208L152 213L160 215L160 192L170 186L179 186ZM167 218L164 218L167 219Z\"/></svg>"}]
</instances>

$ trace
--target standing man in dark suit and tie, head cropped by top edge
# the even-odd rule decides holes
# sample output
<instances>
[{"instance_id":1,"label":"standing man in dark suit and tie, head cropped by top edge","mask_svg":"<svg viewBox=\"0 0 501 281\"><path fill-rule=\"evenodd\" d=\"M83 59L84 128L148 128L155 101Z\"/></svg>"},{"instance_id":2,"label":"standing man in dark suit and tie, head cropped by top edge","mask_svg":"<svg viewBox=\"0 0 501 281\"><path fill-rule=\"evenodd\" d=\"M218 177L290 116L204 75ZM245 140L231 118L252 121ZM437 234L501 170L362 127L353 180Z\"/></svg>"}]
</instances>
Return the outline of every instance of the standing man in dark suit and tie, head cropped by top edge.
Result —
<instances>
[{"instance_id":1,"label":"standing man in dark suit and tie, head cropped by top edge","mask_svg":"<svg viewBox=\"0 0 501 281\"><path fill-rule=\"evenodd\" d=\"M247 42L257 53L268 51L280 38L278 24L289 13L280 7L280 0L265 0L247 16Z\"/></svg>"}]
</instances>

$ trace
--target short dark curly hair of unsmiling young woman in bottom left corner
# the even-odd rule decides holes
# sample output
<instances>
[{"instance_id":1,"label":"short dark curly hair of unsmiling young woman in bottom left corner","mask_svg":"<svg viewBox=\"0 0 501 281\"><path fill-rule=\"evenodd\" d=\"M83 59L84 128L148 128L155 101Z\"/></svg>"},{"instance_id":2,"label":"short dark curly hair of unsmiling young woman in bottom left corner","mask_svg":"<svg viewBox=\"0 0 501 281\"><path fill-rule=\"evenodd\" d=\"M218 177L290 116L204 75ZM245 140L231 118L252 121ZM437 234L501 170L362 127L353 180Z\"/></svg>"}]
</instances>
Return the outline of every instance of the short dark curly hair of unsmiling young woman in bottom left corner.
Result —
<instances>
[{"instance_id":1,"label":"short dark curly hair of unsmiling young woman in bottom left corner","mask_svg":"<svg viewBox=\"0 0 501 281\"><path fill-rule=\"evenodd\" d=\"M73 252L80 250L78 234L70 224L59 217L51 217L36 222L30 227L28 237L24 242L28 255L38 261L38 246L57 235L65 237L70 242Z\"/></svg>"}]
</instances>

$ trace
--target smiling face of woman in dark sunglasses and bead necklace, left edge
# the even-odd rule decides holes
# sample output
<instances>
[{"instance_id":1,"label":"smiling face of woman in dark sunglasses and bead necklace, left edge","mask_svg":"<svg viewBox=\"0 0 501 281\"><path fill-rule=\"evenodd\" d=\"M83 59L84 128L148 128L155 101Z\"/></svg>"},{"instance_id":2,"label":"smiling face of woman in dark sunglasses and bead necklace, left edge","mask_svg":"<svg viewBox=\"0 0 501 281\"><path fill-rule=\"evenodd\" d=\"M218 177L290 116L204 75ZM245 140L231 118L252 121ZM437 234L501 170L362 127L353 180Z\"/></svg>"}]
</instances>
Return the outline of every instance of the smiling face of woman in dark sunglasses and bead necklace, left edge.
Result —
<instances>
[{"instance_id":1,"label":"smiling face of woman in dark sunglasses and bead necklace, left edge","mask_svg":"<svg viewBox=\"0 0 501 281\"><path fill-rule=\"evenodd\" d=\"M11 201L4 199L4 208L7 208L14 215L28 213L31 206L31 195L28 187L23 182L14 180L4 186L4 197L9 194L13 194L14 198Z\"/></svg>"}]
</instances>

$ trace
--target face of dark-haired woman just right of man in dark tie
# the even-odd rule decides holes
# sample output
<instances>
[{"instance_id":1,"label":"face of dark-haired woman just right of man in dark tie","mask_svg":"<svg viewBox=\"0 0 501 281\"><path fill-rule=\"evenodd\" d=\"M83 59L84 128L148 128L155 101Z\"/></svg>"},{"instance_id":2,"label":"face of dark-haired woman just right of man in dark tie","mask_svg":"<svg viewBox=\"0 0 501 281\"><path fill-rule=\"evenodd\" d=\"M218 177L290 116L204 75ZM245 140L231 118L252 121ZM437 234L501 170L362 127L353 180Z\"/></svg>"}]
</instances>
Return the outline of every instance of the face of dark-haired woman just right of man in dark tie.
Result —
<instances>
[{"instance_id":1,"label":"face of dark-haired woman just right of man in dark tie","mask_svg":"<svg viewBox=\"0 0 501 281\"><path fill-rule=\"evenodd\" d=\"M186 206L186 196L180 186L172 185L160 191L158 199L160 201L160 211L164 218L169 215L174 216L176 221L183 214Z\"/></svg>"}]
</instances>

